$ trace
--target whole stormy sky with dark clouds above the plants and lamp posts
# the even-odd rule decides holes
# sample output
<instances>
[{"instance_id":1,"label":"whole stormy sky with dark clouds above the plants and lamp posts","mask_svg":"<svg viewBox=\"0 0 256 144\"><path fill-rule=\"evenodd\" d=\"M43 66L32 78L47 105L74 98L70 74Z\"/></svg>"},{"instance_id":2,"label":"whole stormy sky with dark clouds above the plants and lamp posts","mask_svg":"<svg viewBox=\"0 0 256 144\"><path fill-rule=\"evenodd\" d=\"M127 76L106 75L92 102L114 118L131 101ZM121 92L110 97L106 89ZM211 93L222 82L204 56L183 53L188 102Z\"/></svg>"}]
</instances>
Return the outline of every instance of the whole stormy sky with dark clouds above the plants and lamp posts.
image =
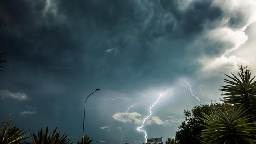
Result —
<instances>
[{"instance_id":1,"label":"whole stormy sky with dark clouds above the plants and lamp posts","mask_svg":"<svg viewBox=\"0 0 256 144\"><path fill-rule=\"evenodd\" d=\"M184 109L256 75L256 0L1 0L0 122L73 142L174 137ZM161 97L160 97L161 96ZM197 98L195 97L197 96Z\"/></svg>"}]
</instances>

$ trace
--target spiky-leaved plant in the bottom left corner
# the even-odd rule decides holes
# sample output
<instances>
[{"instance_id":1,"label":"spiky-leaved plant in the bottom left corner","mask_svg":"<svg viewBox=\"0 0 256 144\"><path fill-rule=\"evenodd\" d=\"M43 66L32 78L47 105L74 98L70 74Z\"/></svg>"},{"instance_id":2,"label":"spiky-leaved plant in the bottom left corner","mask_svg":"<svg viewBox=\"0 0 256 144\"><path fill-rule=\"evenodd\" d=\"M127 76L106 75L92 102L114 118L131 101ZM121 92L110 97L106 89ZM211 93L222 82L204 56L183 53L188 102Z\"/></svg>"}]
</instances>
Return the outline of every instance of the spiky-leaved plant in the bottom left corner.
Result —
<instances>
[{"instance_id":1,"label":"spiky-leaved plant in the bottom left corner","mask_svg":"<svg viewBox=\"0 0 256 144\"><path fill-rule=\"evenodd\" d=\"M18 129L11 134L11 127L5 125L2 131L0 131L0 144L17 144L18 142L28 138L24 135L26 132L22 133L22 131L23 130Z\"/></svg>"}]
</instances>

